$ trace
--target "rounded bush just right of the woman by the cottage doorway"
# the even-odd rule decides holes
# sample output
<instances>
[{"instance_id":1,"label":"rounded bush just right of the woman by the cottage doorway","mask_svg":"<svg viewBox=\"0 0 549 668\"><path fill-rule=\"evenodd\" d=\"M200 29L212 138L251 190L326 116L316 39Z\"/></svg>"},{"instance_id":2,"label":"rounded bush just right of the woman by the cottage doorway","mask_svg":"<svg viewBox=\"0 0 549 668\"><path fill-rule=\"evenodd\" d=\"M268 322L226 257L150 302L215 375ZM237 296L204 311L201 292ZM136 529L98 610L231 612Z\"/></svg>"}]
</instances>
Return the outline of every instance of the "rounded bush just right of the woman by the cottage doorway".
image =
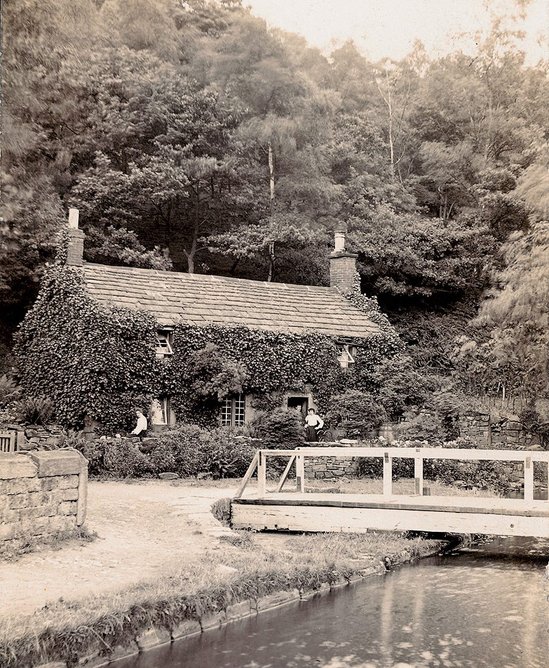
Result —
<instances>
[{"instance_id":1,"label":"rounded bush just right of the woman by the cottage doorway","mask_svg":"<svg viewBox=\"0 0 549 668\"><path fill-rule=\"evenodd\" d=\"M387 419L383 406L373 395L347 390L330 400L326 421L330 427L343 427L349 438L367 438Z\"/></svg>"}]
</instances>

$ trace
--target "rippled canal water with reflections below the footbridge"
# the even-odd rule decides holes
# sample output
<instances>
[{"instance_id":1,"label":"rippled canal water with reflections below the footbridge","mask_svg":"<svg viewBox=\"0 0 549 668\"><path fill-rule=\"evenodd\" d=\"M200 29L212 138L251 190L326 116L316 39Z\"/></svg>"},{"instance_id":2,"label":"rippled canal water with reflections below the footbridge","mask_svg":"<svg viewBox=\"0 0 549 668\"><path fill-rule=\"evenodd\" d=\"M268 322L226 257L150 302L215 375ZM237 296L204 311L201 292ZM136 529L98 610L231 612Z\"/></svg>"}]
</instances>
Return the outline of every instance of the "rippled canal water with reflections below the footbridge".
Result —
<instances>
[{"instance_id":1,"label":"rippled canal water with reflections below the footbridge","mask_svg":"<svg viewBox=\"0 0 549 668\"><path fill-rule=\"evenodd\" d=\"M116 668L549 668L549 541L423 560Z\"/></svg>"}]
</instances>

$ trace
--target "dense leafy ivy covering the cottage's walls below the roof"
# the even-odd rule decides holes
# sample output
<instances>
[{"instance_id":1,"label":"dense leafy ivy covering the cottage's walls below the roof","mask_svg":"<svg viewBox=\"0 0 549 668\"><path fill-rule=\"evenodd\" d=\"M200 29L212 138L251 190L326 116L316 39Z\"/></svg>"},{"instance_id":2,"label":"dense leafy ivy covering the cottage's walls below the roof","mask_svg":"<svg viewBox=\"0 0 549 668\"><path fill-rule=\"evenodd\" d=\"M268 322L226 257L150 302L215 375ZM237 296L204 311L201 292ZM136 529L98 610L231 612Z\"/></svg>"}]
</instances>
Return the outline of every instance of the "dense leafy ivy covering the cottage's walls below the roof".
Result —
<instances>
[{"instance_id":1,"label":"dense leafy ivy covering the cottage's walls below the roof","mask_svg":"<svg viewBox=\"0 0 549 668\"><path fill-rule=\"evenodd\" d=\"M381 333L360 339L356 364L344 371L337 342L311 332L292 334L247 327L179 324L174 354L156 359L156 322L147 313L105 308L86 293L82 272L53 266L23 321L16 344L21 384L30 396L50 397L57 419L81 427L86 417L105 430L127 429L134 409L169 396L180 421L215 422L219 401L253 394L257 408L281 402L281 391L308 386L319 409L348 389L372 391L372 374L401 351L400 341L372 300L368 312Z\"/></svg>"}]
</instances>

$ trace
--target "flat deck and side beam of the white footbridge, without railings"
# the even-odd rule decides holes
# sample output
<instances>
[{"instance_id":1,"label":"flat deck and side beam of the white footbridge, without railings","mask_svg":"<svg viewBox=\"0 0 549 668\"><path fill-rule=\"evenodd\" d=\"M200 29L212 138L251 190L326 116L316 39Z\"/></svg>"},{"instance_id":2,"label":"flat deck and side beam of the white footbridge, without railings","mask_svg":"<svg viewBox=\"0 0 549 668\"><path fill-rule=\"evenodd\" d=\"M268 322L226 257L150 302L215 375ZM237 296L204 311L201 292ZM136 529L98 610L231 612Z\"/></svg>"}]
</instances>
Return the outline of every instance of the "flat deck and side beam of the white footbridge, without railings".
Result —
<instances>
[{"instance_id":1,"label":"flat deck and side beam of the white footbridge, without railings","mask_svg":"<svg viewBox=\"0 0 549 668\"><path fill-rule=\"evenodd\" d=\"M433 531L549 538L549 504L523 499L279 493L235 499L232 526L256 531Z\"/></svg>"}]
</instances>

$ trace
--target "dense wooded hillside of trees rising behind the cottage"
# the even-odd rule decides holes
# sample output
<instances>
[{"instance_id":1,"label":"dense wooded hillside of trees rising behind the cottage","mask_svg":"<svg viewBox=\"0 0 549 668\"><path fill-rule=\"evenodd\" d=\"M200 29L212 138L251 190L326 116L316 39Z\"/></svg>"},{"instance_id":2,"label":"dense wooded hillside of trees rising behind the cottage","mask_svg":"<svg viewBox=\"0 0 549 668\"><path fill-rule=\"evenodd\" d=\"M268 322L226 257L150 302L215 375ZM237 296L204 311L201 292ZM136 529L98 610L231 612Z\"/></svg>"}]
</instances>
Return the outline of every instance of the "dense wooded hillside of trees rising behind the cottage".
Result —
<instances>
[{"instance_id":1,"label":"dense wooded hillside of trees rising behind the cottage","mask_svg":"<svg viewBox=\"0 0 549 668\"><path fill-rule=\"evenodd\" d=\"M68 206L94 261L298 283L326 283L346 227L417 367L467 374L450 360L464 335L490 392L547 392L545 311L517 360L509 299L523 272L545 277L527 257L543 260L547 219L547 64L526 64L518 17L494 18L473 55L416 44L373 63L352 43L326 57L238 0L4 4L9 326ZM501 296L480 336L466 322L487 288Z\"/></svg>"}]
</instances>

